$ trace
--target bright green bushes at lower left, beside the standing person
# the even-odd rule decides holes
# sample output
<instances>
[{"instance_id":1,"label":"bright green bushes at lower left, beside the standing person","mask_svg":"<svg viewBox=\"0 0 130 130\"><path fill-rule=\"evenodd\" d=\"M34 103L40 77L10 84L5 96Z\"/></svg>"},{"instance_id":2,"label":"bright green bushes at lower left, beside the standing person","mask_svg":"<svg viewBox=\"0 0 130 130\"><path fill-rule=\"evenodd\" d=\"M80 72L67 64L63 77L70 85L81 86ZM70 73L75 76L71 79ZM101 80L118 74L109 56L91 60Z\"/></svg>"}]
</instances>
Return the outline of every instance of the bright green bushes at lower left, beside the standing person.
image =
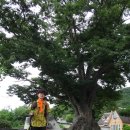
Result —
<instances>
[{"instance_id":1,"label":"bright green bushes at lower left, beside the standing person","mask_svg":"<svg viewBox=\"0 0 130 130\"><path fill-rule=\"evenodd\" d=\"M29 109L26 106L21 106L14 110L1 110L0 128L23 128L28 113Z\"/></svg>"}]
</instances>

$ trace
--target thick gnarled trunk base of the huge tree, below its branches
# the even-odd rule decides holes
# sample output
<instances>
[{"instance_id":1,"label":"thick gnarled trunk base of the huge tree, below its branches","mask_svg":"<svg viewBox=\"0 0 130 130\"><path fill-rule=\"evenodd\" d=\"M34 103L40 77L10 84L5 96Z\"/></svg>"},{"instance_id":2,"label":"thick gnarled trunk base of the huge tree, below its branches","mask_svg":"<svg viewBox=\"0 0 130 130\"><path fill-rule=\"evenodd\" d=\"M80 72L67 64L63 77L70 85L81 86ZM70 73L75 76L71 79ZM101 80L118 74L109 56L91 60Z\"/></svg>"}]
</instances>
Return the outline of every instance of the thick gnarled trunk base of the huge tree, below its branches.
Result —
<instances>
[{"instance_id":1,"label":"thick gnarled trunk base of the huge tree, below its branches","mask_svg":"<svg viewBox=\"0 0 130 130\"><path fill-rule=\"evenodd\" d=\"M97 122L92 116L91 106L85 102L77 102L74 98L71 100L75 108L75 120L69 130L100 130Z\"/></svg>"}]
</instances>

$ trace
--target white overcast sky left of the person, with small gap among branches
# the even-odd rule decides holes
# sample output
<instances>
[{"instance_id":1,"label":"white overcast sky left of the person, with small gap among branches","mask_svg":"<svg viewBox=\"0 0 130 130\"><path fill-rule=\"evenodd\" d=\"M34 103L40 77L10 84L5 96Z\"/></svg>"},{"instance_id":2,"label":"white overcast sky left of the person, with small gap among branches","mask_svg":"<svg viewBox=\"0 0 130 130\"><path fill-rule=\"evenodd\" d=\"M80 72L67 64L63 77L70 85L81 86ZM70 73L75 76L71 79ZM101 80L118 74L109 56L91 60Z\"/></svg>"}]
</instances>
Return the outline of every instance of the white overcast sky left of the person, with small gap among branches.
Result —
<instances>
[{"instance_id":1,"label":"white overcast sky left of the person, with small gap among branches","mask_svg":"<svg viewBox=\"0 0 130 130\"><path fill-rule=\"evenodd\" d=\"M30 77L37 77L39 71L36 68L29 67L27 69L31 73ZM7 89L12 84L27 84L25 81L18 81L12 77L7 76L3 81L0 81L0 110L2 109L12 109L18 108L24 105L24 102L21 101L16 95L9 96L7 94Z\"/></svg>"}]
</instances>

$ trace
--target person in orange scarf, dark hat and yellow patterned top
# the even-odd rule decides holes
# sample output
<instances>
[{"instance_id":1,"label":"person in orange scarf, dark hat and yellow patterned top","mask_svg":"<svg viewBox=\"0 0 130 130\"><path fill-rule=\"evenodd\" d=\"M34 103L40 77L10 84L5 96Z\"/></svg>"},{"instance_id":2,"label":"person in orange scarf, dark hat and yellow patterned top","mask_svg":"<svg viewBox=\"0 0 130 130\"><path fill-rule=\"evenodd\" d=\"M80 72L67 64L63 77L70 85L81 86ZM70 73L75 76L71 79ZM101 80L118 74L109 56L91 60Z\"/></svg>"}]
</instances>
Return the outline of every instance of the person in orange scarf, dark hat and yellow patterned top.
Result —
<instances>
[{"instance_id":1,"label":"person in orange scarf, dark hat and yellow patterned top","mask_svg":"<svg viewBox=\"0 0 130 130\"><path fill-rule=\"evenodd\" d=\"M46 91L37 91L38 99L31 105L30 128L31 130L46 130L49 104L45 100Z\"/></svg>"}]
</instances>

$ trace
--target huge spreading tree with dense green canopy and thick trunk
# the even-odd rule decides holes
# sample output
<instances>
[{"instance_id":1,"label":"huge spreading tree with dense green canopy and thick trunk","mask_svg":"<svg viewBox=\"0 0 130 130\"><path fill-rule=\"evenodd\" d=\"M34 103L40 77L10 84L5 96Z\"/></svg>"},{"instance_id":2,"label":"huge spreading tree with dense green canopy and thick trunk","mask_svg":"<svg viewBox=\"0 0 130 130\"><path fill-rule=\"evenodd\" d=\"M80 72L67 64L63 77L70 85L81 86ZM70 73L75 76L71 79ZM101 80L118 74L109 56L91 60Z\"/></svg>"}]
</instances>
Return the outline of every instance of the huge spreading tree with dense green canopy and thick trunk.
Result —
<instances>
[{"instance_id":1,"label":"huge spreading tree with dense green canopy and thick trunk","mask_svg":"<svg viewBox=\"0 0 130 130\"><path fill-rule=\"evenodd\" d=\"M13 36L0 35L1 74L30 82L10 93L28 103L44 87L73 106L72 130L98 130L93 110L117 99L130 78L129 7L128 0L2 0L0 24ZM38 78L27 79L29 65Z\"/></svg>"}]
</instances>

